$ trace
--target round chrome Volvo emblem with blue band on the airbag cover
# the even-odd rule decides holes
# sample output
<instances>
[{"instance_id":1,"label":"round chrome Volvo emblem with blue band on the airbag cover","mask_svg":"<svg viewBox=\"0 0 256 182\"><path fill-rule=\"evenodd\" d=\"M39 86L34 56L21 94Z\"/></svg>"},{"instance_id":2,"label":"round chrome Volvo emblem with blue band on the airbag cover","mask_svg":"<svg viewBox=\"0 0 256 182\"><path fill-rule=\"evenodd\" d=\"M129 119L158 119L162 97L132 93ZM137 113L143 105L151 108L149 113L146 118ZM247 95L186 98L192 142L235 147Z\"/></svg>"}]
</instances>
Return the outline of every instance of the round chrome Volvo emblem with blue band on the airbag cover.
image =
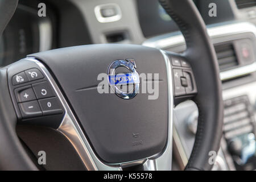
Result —
<instances>
[{"instance_id":1,"label":"round chrome Volvo emblem with blue band on the airbag cover","mask_svg":"<svg viewBox=\"0 0 256 182\"><path fill-rule=\"evenodd\" d=\"M115 74L119 67L128 69L128 73ZM110 88L117 94L118 97L131 99L139 92L139 74L136 71L136 64L133 59L115 60L108 68L108 82ZM118 86L131 86L127 92L121 90ZM129 87L130 88L130 87Z\"/></svg>"}]
</instances>

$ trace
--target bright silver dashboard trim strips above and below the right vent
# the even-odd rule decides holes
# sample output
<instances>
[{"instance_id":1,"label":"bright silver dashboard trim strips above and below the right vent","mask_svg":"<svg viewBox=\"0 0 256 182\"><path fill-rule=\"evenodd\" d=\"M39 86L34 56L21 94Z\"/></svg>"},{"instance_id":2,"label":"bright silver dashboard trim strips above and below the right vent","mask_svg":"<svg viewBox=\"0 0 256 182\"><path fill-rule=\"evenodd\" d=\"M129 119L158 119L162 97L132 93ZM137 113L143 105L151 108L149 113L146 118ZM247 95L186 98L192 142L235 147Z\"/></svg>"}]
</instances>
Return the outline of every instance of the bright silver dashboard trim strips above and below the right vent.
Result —
<instances>
[{"instance_id":1,"label":"bright silver dashboard trim strips above and below the right vent","mask_svg":"<svg viewBox=\"0 0 256 182\"><path fill-rule=\"evenodd\" d=\"M217 27L207 28L210 38L221 38L229 35L242 34L251 32L256 36L256 27L254 24L248 22L225 24ZM168 38L162 38L162 36L156 36L146 40L142 45L148 47L154 47L159 49L166 49L170 47L181 46L185 44L183 35L170 36ZM222 71L220 78L222 81L230 80L239 76L247 75L256 72L256 63L245 65L242 67L230 69L228 71Z\"/></svg>"}]
</instances>

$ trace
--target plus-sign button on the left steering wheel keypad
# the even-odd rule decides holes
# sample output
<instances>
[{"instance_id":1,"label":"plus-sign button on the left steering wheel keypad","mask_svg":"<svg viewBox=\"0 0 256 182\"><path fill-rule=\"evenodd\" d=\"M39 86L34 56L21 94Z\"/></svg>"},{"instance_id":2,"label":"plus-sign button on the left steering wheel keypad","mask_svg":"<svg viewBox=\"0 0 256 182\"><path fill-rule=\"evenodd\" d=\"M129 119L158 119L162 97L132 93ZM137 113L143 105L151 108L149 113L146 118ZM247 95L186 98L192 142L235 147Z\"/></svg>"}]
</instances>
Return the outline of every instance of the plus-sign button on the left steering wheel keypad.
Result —
<instances>
[{"instance_id":1,"label":"plus-sign button on the left steering wheel keypad","mask_svg":"<svg viewBox=\"0 0 256 182\"><path fill-rule=\"evenodd\" d=\"M14 90L18 102L36 100L35 93L31 86L24 86Z\"/></svg>"}]
</instances>

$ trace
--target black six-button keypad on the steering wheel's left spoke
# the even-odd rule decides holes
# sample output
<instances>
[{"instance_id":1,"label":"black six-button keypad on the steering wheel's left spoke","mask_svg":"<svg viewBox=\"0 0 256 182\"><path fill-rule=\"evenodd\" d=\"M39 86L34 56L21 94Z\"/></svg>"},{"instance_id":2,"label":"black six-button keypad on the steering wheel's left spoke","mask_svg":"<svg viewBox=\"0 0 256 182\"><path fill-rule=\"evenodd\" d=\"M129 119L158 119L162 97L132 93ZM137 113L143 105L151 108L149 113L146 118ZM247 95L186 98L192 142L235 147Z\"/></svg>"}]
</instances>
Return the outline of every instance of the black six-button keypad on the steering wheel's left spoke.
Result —
<instances>
[{"instance_id":1,"label":"black six-button keypad on the steering wheel's left spoke","mask_svg":"<svg viewBox=\"0 0 256 182\"><path fill-rule=\"evenodd\" d=\"M30 68L17 73L11 77L11 83L18 118L28 121L28 119L63 113L59 98L56 97L51 84L39 68Z\"/></svg>"}]
</instances>

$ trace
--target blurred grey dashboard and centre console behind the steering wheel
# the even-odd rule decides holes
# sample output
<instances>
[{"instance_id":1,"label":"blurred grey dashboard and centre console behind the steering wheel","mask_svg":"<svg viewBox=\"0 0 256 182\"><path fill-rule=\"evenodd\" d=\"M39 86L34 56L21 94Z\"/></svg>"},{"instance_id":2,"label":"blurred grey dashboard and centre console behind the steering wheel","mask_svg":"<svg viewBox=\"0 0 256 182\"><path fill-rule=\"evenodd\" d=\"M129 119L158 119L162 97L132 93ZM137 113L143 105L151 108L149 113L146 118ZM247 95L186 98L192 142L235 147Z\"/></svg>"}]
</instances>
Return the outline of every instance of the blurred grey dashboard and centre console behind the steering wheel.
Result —
<instances>
[{"instance_id":1,"label":"blurred grey dashboard and centre console behind the steering wheel","mask_svg":"<svg viewBox=\"0 0 256 182\"><path fill-rule=\"evenodd\" d=\"M38 16L45 3L46 16ZM196 0L220 65L225 104L218 170L256 169L256 2ZM209 3L217 16L208 15ZM84 44L142 44L181 53L186 45L157 0L20 0L0 38L0 67L34 52ZM186 108L186 113L181 110ZM198 110L192 101L175 108L173 169L187 164Z\"/></svg>"}]
</instances>

